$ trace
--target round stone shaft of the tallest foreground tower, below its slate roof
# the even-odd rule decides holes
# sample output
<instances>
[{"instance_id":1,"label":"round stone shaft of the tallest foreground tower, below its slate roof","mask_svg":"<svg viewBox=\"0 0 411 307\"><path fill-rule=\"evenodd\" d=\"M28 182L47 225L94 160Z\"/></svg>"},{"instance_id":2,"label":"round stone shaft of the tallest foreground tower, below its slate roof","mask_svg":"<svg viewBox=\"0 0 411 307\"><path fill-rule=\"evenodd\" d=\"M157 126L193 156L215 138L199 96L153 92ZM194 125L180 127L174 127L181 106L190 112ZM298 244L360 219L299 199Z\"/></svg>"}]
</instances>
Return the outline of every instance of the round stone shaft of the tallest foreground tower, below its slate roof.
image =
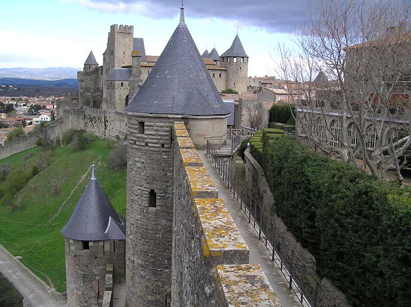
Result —
<instances>
[{"instance_id":1,"label":"round stone shaft of the tallest foreground tower, below its slate roof","mask_svg":"<svg viewBox=\"0 0 411 307\"><path fill-rule=\"evenodd\" d=\"M173 118L127 115L126 306L170 301Z\"/></svg>"}]
</instances>

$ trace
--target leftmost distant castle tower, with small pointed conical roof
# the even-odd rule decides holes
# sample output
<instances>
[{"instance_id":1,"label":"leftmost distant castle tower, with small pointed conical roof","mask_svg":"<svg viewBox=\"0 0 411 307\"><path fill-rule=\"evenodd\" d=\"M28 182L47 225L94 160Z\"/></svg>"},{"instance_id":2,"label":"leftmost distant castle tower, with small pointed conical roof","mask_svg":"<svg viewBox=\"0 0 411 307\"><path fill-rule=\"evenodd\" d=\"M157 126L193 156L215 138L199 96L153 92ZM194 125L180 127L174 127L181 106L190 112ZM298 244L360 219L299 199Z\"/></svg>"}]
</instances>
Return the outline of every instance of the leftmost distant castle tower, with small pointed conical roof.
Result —
<instances>
[{"instance_id":1,"label":"leftmost distant castle tower, with small pointed conical roof","mask_svg":"<svg viewBox=\"0 0 411 307\"><path fill-rule=\"evenodd\" d=\"M88 54L83 71L78 72L77 78L80 104L85 107L101 108L101 74L99 64L92 51Z\"/></svg>"}]
</instances>

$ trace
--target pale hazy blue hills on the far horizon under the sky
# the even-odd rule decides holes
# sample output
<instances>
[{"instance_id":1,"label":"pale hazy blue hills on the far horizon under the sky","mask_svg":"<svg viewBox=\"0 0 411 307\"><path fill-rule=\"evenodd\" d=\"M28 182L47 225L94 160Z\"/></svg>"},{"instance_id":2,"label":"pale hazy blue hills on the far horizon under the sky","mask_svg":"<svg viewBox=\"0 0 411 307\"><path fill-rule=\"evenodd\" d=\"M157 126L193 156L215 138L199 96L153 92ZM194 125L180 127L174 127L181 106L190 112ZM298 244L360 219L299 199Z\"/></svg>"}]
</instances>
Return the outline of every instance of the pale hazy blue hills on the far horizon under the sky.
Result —
<instances>
[{"instance_id":1,"label":"pale hazy blue hills on the far horizon under the sky","mask_svg":"<svg viewBox=\"0 0 411 307\"><path fill-rule=\"evenodd\" d=\"M22 78L60 80L76 79L77 71L81 69L73 67L49 67L49 68L0 68L0 78Z\"/></svg>"}]
</instances>

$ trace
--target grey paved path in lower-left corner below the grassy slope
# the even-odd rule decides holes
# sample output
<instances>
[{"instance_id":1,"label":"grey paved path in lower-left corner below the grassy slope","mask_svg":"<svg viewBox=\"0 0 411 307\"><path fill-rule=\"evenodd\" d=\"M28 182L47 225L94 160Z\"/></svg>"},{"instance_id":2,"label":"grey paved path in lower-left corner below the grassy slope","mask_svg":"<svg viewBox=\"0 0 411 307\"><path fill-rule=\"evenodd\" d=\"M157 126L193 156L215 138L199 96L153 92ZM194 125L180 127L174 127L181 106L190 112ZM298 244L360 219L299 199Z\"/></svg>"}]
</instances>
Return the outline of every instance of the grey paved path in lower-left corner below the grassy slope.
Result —
<instances>
[{"instance_id":1,"label":"grey paved path in lower-left corner below the grassy slope","mask_svg":"<svg viewBox=\"0 0 411 307\"><path fill-rule=\"evenodd\" d=\"M14 288L24 297L25 306L67 306L66 303L55 300L44 291L3 249L0 249L0 272L13 283Z\"/></svg>"}]
</instances>

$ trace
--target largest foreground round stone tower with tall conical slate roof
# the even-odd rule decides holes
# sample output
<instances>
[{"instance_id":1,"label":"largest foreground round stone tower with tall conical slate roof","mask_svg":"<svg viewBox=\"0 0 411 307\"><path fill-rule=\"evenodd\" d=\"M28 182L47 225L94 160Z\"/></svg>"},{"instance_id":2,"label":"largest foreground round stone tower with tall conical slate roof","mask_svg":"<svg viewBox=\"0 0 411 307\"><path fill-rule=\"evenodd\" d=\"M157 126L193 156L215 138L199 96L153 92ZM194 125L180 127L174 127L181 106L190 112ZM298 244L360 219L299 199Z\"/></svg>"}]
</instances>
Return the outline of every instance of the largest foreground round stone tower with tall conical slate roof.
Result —
<instances>
[{"instance_id":1,"label":"largest foreground round stone tower with tall conical slate roof","mask_svg":"<svg viewBox=\"0 0 411 307\"><path fill-rule=\"evenodd\" d=\"M194 144L225 137L230 113L184 22L180 23L127 113L126 306L170 303L174 122Z\"/></svg>"}]
</instances>

